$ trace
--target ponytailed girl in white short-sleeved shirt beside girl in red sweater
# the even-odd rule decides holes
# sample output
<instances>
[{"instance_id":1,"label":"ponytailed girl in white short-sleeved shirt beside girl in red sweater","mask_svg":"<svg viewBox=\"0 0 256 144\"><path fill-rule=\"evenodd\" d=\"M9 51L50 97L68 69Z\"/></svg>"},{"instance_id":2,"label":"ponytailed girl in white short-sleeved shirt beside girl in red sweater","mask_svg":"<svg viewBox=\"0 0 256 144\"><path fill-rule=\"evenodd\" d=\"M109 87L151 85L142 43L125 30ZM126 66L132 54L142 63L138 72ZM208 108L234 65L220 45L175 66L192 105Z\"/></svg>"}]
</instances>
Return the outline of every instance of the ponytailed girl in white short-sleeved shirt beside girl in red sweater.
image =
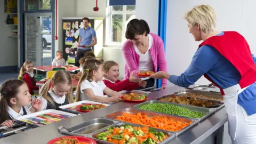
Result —
<instances>
[{"instance_id":1,"label":"ponytailed girl in white short-sleeved shirt beside girl in red sweater","mask_svg":"<svg viewBox=\"0 0 256 144\"><path fill-rule=\"evenodd\" d=\"M76 101L92 100L98 102L118 102L120 93L109 89L104 82L102 63L97 59L86 59L83 63L84 72L76 89ZM103 92L110 96L105 97Z\"/></svg>"}]
</instances>

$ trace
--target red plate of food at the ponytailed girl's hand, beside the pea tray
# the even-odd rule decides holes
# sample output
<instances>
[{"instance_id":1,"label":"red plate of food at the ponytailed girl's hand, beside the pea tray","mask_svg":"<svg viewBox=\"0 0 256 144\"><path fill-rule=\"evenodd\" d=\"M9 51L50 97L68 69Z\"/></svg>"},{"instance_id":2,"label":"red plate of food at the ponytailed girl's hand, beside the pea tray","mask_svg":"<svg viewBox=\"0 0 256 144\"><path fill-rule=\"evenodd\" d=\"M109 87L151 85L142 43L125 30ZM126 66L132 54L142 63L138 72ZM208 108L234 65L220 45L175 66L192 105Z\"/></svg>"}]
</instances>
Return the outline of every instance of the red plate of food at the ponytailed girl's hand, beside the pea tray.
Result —
<instances>
[{"instance_id":1,"label":"red plate of food at the ponytailed girl's hand, beside the pea tray","mask_svg":"<svg viewBox=\"0 0 256 144\"><path fill-rule=\"evenodd\" d=\"M125 101L131 101L131 102L142 102L146 101L148 97L144 93L125 93L122 95L121 99Z\"/></svg>"}]
</instances>

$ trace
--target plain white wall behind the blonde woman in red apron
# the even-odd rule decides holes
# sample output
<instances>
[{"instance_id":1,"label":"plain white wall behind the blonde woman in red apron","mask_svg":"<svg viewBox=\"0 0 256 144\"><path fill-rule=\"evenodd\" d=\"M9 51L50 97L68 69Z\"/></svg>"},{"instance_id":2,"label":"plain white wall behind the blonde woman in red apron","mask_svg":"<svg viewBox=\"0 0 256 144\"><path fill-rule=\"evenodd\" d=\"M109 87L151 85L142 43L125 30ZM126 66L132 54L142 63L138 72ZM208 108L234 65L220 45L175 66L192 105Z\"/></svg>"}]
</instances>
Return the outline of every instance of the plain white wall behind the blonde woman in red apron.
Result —
<instances>
[{"instance_id":1,"label":"plain white wall behind the blonde woman in red apron","mask_svg":"<svg viewBox=\"0 0 256 144\"><path fill-rule=\"evenodd\" d=\"M180 75L190 64L198 44L189 34L187 21L183 19L186 11L199 4L210 4L217 13L217 30L236 30L247 39L251 51L256 53L255 23L256 1L226 0L226 1L168 1L166 23L166 58L169 74ZM205 78L197 83L209 84Z\"/></svg>"}]
</instances>

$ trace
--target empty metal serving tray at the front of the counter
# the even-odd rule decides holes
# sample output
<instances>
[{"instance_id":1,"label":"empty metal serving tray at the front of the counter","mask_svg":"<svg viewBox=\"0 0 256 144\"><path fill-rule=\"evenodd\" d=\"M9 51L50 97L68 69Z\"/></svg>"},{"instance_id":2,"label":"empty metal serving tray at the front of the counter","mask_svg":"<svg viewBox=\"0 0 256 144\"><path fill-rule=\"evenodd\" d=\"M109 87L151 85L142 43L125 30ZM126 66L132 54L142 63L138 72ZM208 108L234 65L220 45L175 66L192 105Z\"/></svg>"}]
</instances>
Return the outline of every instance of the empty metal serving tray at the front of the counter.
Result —
<instances>
[{"instance_id":1,"label":"empty metal serving tray at the front of the counter","mask_svg":"<svg viewBox=\"0 0 256 144\"><path fill-rule=\"evenodd\" d=\"M119 121L114 121L107 118L94 118L84 123L69 127L68 130L70 132L68 132L62 126L58 127L58 131L60 133L65 133L68 135L77 135L77 136L85 137L86 135L89 135L95 131L99 131L101 129L104 129L105 127L108 127L117 123L119 123Z\"/></svg>"}]
</instances>

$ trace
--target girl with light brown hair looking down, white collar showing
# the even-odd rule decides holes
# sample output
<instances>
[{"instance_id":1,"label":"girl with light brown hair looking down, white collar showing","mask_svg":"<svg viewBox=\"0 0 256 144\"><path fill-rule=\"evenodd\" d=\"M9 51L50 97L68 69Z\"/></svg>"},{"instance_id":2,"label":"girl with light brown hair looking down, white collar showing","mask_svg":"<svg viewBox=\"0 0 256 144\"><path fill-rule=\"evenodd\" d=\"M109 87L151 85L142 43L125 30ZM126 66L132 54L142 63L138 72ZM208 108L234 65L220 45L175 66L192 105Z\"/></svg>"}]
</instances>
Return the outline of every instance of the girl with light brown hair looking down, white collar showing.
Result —
<instances>
[{"instance_id":1,"label":"girl with light brown hair looking down, white collar showing","mask_svg":"<svg viewBox=\"0 0 256 144\"><path fill-rule=\"evenodd\" d=\"M51 87L50 90L49 87ZM42 110L60 110L60 106L73 103L73 87L70 73L65 70L56 71L53 77L43 85L39 94L41 97L38 99L42 100Z\"/></svg>"}]
</instances>

